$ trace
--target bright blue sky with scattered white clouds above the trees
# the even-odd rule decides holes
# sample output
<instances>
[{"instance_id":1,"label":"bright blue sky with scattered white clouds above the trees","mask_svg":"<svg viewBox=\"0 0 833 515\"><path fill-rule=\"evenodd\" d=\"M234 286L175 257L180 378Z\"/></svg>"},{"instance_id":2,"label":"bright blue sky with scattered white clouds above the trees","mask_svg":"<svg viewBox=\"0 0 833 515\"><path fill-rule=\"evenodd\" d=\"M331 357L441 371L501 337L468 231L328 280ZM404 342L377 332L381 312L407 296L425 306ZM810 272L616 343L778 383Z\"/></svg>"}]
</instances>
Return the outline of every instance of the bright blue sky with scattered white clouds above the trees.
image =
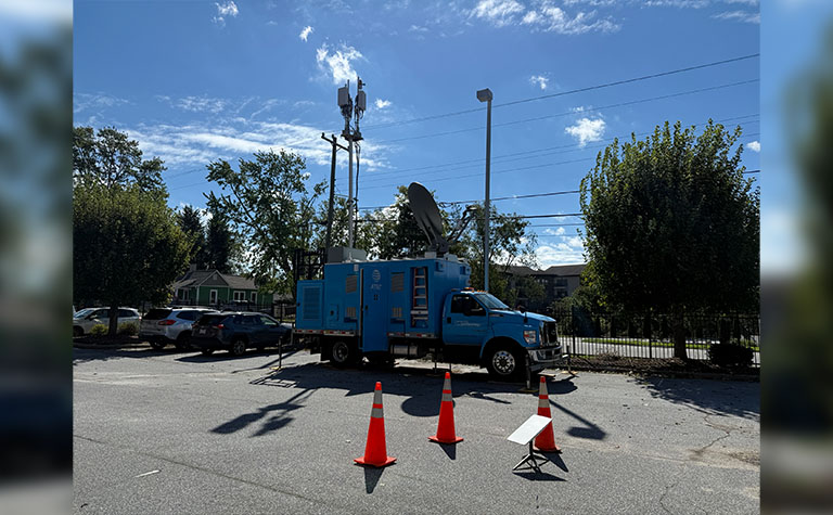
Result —
<instances>
[{"instance_id":1,"label":"bright blue sky with scattered white clouds above the trees","mask_svg":"<svg viewBox=\"0 0 833 515\"><path fill-rule=\"evenodd\" d=\"M482 88L495 95L492 197L577 190L600 147L665 120L740 124L757 170L758 57L569 92L756 54L759 36L757 0L77 0L74 120L115 126L165 159L174 207L205 205L207 163L257 150L291 149L311 181L329 178L320 136L341 132L336 89L357 74L369 104L360 207L389 204L413 180L439 202L482 199ZM480 111L412 121L467 110ZM576 194L496 205L579 211ZM551 227L576 222L531 220L542 267L582 261L577 228Z\"/></svg>"}]
</instances>

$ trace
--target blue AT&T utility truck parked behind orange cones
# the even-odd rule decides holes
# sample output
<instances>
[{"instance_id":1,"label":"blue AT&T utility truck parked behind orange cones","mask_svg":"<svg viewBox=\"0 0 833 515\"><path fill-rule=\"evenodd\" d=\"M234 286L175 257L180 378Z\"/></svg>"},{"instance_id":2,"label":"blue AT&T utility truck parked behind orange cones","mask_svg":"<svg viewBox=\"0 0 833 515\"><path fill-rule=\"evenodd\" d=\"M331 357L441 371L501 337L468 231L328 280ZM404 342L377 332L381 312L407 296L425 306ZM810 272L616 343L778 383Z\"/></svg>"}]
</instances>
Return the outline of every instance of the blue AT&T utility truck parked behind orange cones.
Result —
<instances>
[{"instance_id":1,"label":"blue AT&T utility truck parked behind orange cones","mask_svg":"<svg viewBox=\"0 0 833 515\"><path fill-rule=\"evenodd\" d=\"M530 371L561 360L553 319L467 287L467 263L432 254L324 265L324 279L298 281L295 334L342 366L432 352L508 378L525 371L527 358Z\"/></svg>"}]
</instances>

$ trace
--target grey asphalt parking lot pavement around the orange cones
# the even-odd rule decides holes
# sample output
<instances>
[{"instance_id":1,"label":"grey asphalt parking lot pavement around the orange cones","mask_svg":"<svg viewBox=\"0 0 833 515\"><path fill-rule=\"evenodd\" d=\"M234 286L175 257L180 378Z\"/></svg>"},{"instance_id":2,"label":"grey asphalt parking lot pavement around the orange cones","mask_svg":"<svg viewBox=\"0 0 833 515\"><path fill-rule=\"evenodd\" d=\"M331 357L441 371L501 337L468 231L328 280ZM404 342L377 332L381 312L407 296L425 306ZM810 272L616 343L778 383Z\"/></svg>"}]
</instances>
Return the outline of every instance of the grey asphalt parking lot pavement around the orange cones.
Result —
<instances>
[{"instance_id":1,"label":"grey asphalt parking lot pavement around the orange cones","mask_svg":"<svg viewBox=\"0 0 833 515\"><path fill-rule=\"evenodd\" d=\"M335 370L318 356L74 353L75 513L757 513L757 383L560 373L541 473L507 440L520 384L452 368L457 446L430 442L441 370ZM396 464L363 454L382 382Z\"/></svg>"}]
</instances>

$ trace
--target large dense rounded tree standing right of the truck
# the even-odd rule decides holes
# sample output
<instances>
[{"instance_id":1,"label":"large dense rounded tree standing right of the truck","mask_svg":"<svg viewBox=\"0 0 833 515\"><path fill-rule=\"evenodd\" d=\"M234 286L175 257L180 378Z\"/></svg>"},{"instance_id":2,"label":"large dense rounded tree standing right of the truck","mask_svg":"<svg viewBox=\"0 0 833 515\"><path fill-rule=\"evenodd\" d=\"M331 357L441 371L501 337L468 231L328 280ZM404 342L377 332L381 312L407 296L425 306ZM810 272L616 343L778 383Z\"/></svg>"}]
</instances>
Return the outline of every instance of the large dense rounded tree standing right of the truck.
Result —
<instances>
[{"instance_id":1,"label":"large dense rounded tree standing right of the truck","mask_svg":"<svg viewBox=\"0 0 833 515\"><path fill-rule=\"evenodd\" d=\"M602 302L672 317L675 356L685 359L683 317L758 302L760 197L744 179L740 127L680 123L599 153L581 181L589 262Z\"/></svg>"}]
</instances>

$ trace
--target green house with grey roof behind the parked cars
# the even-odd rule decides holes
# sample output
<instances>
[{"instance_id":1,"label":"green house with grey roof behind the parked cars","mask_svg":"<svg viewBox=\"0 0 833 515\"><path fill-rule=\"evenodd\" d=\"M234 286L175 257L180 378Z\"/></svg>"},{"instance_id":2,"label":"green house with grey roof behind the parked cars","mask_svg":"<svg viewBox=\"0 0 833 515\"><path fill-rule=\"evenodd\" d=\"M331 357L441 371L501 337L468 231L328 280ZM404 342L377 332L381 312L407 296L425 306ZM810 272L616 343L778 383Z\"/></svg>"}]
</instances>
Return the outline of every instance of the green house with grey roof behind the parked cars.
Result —
<instances>
[{"instance_id":1,"label":"green house with grey roof behind the parked cars","mask_svg":"<svg viewBox=\"0 0 833 515\"><path fill-rule=\"evenodd\" d=\"M174 283L175 305L222 306L231 301L265 306L272 302L272 295L259 293L251 279L217 270L192 269Z\"/></svg>"}]
</instances>

